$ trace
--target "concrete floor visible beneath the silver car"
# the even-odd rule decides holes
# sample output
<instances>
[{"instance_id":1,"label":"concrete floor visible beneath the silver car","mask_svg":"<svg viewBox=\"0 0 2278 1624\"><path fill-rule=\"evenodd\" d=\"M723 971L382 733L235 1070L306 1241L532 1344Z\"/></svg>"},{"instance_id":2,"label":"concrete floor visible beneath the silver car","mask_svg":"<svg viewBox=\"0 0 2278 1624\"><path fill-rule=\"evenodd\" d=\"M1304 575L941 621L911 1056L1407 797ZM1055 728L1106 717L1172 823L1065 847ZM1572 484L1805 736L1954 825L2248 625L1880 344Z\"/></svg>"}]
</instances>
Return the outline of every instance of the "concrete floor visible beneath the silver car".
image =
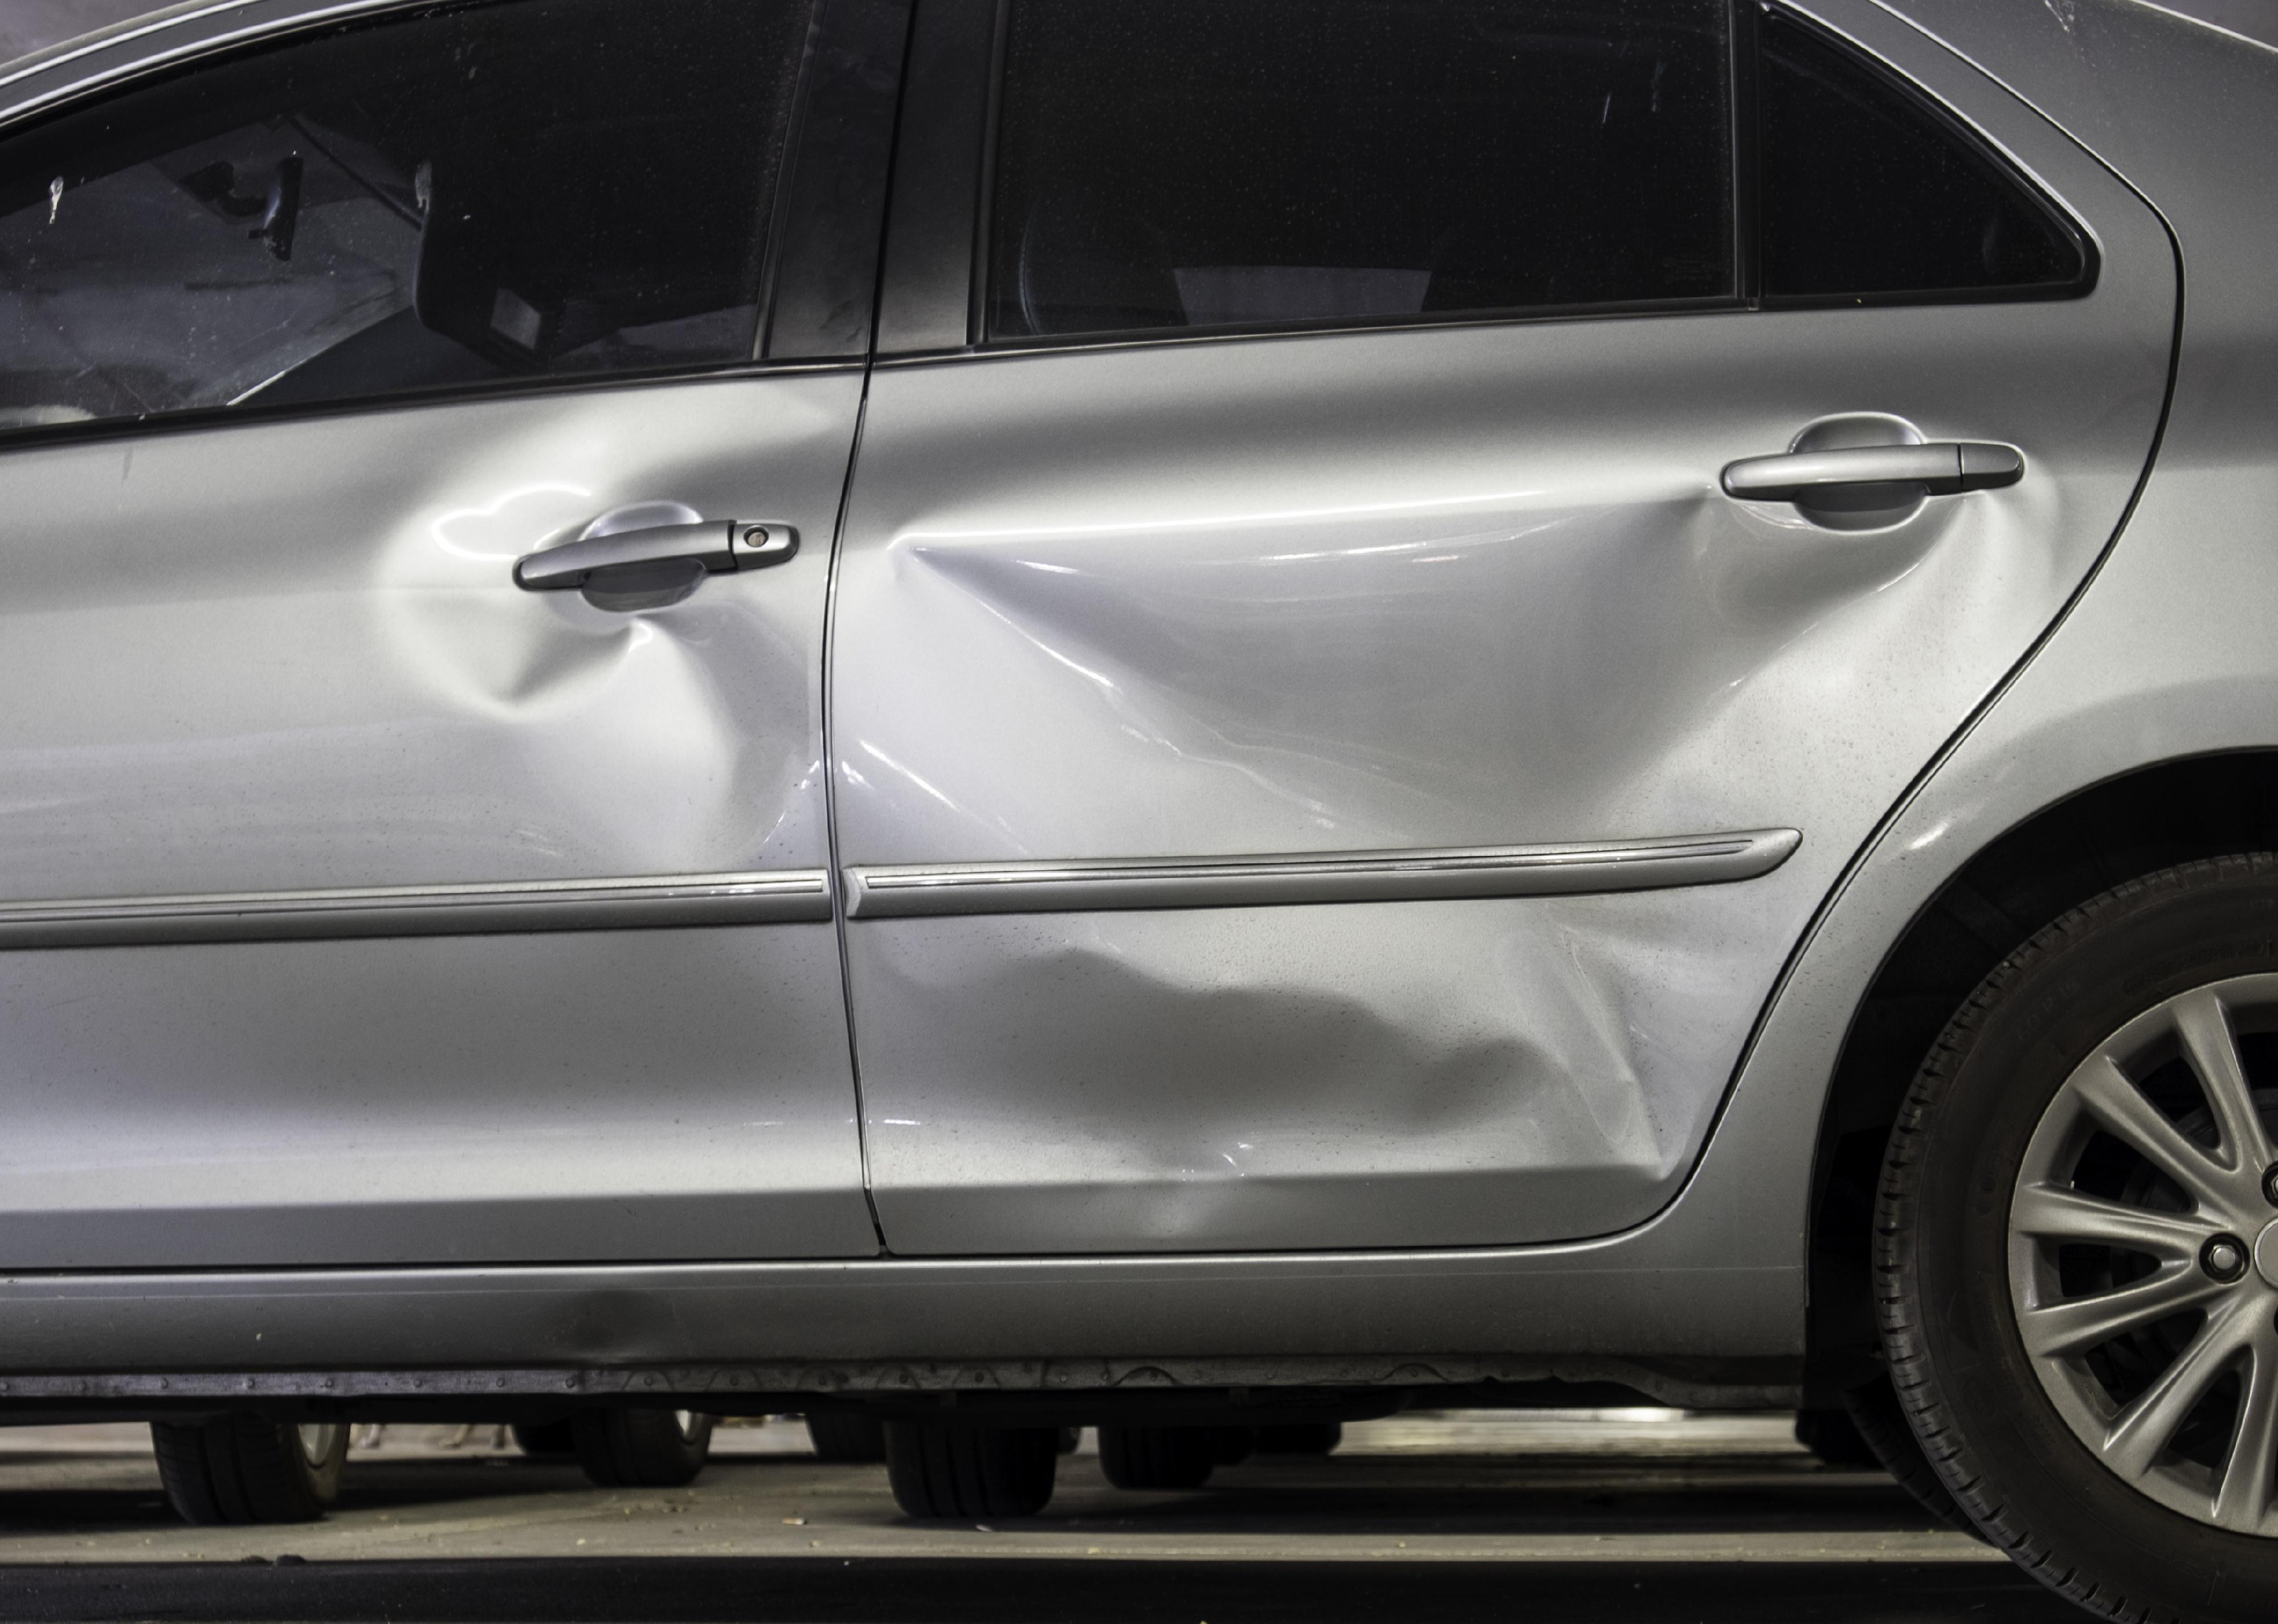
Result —
<instances>
[{"instance_id":1,"label":"concrete floor visible beneath the silver car","mask_svg":"<svg viewBox=\"0 0 2278 1624\"><path fill-rule=\"evenodd\" d=\"M1062 1462L1043 1517L918 1526L797 1424L688 1490L592 1490L490 1435L390 1428L301 1528L185 1528L130 1428L0 1433L5 1619L2073 1619L1784 1417L1401 1417L1191 1494Z\"/></svg>"}]
</instances>

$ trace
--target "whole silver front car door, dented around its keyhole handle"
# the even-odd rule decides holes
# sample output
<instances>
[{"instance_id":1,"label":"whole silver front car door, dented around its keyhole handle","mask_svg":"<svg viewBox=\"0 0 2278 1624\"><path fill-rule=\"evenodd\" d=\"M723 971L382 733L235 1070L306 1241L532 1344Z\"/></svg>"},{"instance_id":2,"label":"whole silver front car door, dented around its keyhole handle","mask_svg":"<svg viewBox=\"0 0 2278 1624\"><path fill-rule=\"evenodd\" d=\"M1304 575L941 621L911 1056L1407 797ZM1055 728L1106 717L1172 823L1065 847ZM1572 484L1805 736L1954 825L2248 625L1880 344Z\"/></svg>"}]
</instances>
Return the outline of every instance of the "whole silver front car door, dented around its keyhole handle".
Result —
<instances>
[{"instance_id":1,"label":"whole silver front car door, dented around its keyhole handle","mask_svg":"<svg viewBox=\"0 0 2278 1624\"><path fill-rule=\"evenodd\" d=\"M339 11L0 139L0 1262L870 1253L898 7Z\"/></svg>"}]
</instances>

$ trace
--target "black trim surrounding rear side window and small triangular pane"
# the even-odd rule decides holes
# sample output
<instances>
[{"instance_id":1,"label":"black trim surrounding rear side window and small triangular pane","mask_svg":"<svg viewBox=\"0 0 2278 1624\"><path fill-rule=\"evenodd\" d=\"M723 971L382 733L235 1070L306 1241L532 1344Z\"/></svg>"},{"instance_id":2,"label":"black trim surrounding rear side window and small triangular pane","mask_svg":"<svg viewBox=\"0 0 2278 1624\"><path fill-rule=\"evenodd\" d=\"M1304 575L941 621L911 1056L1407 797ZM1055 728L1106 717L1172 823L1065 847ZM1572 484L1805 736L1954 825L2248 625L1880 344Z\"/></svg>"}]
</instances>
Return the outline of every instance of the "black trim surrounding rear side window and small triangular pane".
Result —
<instances>
[{"instance_id":1,"label":"black trim surrounding rear side window and small triangular pane","mask_svg":"<svg viewBox=\"0 0 2278 1624\"><path fill-rule=\"evenodd\" d=\"M968 96L957 116L936 123L936 107L911 107L904 96L904 118L900 155L895 162L893 223L904 232L904 246L923 225L904 219L904 171L902 157L927 169L929 189L964 191L970 198L970 253L936 253L929 321L891 321L882 314L877 364L909 364L941 360L950 355L1030 355L1071 348L1139 348L1160 344L1214 344L1228 339L1301 337L1330 333L1387 333L1387 330L1437 330L1478 326L1522 326L1540 321L1601 321L1624 317L1670 317L1704 312L1781 312L1781 310L1891 310L1911 305L2000 305L2000 303L2050 303L2084 298L2096 289L2103 260L2093 235L2057 203L2030 173L2009 159L1984 132L1964 121L1952 107L1932 96L1925 87L1895 71L1873 50L1845 39L1781 0L1727 0L1727 98L1731 116L1731 253L1734 294L1704 298L1647 298L1592 305L1510 305L1494 310L1428 312L1417 317L1351 317L1351 319L1303 319L1303 321L1246 321L1226 326L1187 328L1121 328L1071 335L1016 335L989 337L989 232L995 191L995 139L1005 84L1005 46L1014 0L918 0L920 39L929 36L936 50L973 55L980 34L986 30L989 77L984 96ZM1761 207L1761 107L1756 96L1759 77L1759 23L1777 11L1781 18L1813 30L1845 57L1898 89L1914 107L1923 109L1943 130L1980 153L1998 173L2007 175L2080 251L2080 276L2068 282L2025 282L2014 287L1959 287L1920 289L1891 294L1784 294L1765 296L1763 280L1763 207ZM923 64L920 48L913 48L913 66ZM939 198L939 191L936 191ZM898 276L891 257L893 225L888 225L888 260L884 301L895 303ZM961 246L959 246L961 248ZM950 273L950 260L964 260L964 298L941 287ZM964 333L952 330L948 310L961 303L966 310Z\"/></svg>"}]
</instances>

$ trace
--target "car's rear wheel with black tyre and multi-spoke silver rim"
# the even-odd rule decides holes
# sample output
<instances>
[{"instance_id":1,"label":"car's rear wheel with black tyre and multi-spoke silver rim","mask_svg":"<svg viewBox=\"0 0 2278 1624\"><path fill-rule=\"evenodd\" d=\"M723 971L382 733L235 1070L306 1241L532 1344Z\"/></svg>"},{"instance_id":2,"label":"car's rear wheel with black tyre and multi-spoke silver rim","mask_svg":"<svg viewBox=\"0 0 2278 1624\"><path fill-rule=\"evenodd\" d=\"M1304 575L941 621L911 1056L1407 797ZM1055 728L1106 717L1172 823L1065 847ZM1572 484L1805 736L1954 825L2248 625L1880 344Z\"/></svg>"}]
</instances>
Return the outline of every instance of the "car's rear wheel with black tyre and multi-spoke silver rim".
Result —
<instances>
[{"instance_id":1,"label":"car's rear wheel with black tyre and multi-spoke silver rim","mask_svg":"<svg viewBox=\"0 0 2278 1624\"><path fill-rule=\"evenodd\" d=\"M2123 1619L2278 1615L2278 856L2011 954L1891 1134L1875 1291L1955 1499Z\"/></svg>"}]
</instances>

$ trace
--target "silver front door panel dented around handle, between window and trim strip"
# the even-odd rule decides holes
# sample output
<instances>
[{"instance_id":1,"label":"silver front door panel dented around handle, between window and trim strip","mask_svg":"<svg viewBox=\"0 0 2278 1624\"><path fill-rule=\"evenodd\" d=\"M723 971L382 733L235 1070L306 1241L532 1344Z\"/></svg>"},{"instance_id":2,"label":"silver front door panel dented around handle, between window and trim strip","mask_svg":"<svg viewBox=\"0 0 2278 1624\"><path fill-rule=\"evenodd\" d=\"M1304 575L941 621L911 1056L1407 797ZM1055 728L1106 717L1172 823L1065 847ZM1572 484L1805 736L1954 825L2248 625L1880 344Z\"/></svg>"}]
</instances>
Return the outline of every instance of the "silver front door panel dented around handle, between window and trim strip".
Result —
<instances>
[{"instance_id":1,"label":"silver front door panel dented around handle, between window and trim strip","mask_svg":"<svg viewBox=\"0 0 2278 1624\"><path fill-rule=\"evenodd\" d=\"M0 640L43 692L0 715L0 897L820 866L825 549L642 615L508 572L629 501L827 535L859 387L0 458Z\"/></svg>"}]
</instances>

